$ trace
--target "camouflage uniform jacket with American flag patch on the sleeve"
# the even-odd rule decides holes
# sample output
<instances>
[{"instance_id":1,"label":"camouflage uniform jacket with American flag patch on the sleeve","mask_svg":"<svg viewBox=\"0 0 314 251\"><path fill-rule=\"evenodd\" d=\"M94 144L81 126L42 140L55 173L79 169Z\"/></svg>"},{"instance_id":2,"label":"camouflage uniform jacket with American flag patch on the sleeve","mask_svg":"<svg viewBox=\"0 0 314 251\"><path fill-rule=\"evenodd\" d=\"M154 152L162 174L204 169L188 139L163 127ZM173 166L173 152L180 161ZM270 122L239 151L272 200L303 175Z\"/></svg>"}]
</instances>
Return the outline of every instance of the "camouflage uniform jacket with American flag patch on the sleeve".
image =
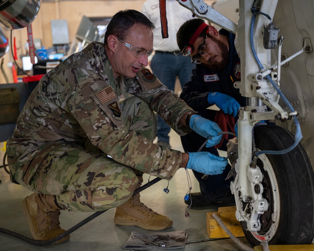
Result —
<instances>
[{"instance_id":1,"label":"camouflage uniform jacket with American flag patch on the sleeve","mask_svg":"<svg viewBox=\"0 0 314 251\"><path fill-rule=\"evenodd\" d=\"M82 145L89 139L116 162L171 179L182 153L127 130L118 103L124 92L149 104L179 135L190 131L178 125L192 110L184 101L144 68L133 79L114 78L104 44L93 42L41 78L7 142L9 168L25 167L51 142Z\"/></svg>"}]
</instances>

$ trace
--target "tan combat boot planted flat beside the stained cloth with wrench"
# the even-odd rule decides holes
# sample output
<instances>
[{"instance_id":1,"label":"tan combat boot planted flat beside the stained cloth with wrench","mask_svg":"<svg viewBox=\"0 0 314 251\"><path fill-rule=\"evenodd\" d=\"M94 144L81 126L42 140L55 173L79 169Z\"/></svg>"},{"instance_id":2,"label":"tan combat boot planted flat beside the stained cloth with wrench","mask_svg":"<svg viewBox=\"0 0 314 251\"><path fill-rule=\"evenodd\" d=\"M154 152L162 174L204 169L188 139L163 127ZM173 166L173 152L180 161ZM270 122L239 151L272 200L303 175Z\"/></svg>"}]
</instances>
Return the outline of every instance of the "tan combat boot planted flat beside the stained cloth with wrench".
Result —
<instances>
[{"instance_id":1,"label":"tan combat boot planted flat beside the stained cloth with wrench","mask_svg":"<svg viewBox=\"0 0 314 251\"><path fill-rule=\"evenodd\" d=\"M143 182L142 177L138 177L139 188ZM172 226L172 220L167 216L160 215L140 200L139 193L132 196L126 203L116 208L115 218L113 220L117 225L136 226L146 230L164 230Z\"/></svg>"}]
</instances>

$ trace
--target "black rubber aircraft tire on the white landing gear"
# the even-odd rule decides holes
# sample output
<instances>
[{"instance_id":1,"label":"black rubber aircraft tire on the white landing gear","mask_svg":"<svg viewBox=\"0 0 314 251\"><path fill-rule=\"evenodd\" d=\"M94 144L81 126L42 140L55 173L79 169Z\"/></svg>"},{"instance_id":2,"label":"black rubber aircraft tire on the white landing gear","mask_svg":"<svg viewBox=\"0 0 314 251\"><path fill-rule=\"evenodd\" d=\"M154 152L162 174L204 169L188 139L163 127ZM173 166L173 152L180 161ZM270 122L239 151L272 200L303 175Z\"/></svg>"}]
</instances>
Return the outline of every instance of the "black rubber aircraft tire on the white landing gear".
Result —
<instances>
[{"instance_id":1,"label":"black rubber aircraft tire on the white landing gear","mask_svg":"<svg viewBox=\"0 0 314 251\"><path fill-rule=\"evenodd\" d=\"M289 131L276 125L255 127L254 137L259 150L283 150L294 142L294 136ZM304 148L299 143L286 154L269 154L265 157L271 167L264 166L260 159L257 164L263 172L263 197L268 197L268 212L260 217L263 230L256 232L258 237L243 229L246 239L253 246L260 245L263 235L271 236L268 239L271 245L310 244L314 238L314 173ZM274 204L269 172L273 172L279 187L279 191L276 191L280 198L279 222L273 222L271 218ZM277 224L277 230L270 235L272 224Z\"/></svg>"}]
</instances>

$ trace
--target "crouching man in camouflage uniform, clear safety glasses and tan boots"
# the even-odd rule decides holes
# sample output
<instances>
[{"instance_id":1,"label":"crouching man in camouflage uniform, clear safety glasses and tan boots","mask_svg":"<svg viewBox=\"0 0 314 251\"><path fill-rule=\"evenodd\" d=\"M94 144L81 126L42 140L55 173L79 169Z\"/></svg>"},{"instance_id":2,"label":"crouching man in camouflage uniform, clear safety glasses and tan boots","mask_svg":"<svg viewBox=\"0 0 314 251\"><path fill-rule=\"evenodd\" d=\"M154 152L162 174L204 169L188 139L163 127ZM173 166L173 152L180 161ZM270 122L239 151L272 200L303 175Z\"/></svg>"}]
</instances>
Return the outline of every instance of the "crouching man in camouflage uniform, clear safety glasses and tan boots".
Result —
<instances>
[{"instance_id":1,"label":"crouching man in camouflage uniform, clear safety glasses and tan boots","mask_svg":"<svg viewBox=\"0 0 314 251\"><path fill-rule=\"evenodd\" d=\"M153 51L154 24L125 10L92 42L42 77L7 142L11 179L34 193L23 210L37 240L55 238L60 210L104 211L114 222L148 230L171 227L134 190L147 173L170 180L178 168L220 174L227 165L210 153L181 153L153 144L156 111L179 134L192 130L220 142L217 124L195 114L143 66ZM124 92L132 97L120 100ZM203 169L202 169L203 168ZM66 241L64 237L58 243Z\"/></svg>"}]
</instances>

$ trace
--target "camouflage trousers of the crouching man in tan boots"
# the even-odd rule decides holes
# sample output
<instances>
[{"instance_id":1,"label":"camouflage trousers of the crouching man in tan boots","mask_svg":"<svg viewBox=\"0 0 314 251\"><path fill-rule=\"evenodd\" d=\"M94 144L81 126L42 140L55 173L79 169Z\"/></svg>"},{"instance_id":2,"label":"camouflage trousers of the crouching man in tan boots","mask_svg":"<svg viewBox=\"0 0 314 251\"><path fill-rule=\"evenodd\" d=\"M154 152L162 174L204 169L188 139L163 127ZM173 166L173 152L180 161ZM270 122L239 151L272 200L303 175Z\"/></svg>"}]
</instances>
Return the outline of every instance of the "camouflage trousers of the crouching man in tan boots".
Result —
<instances>
[{"instance_id":1,"label":"camouflage trousers of the crouching man in tan boots","mask_svg":"<svg viewBox=\"0 0 314 251\"><path fill-rule=\"evenodd\" d=\"M120 104L129 131L153 141L153 110L137 97L124 99ZM39 167L29 183L23 185L56 195L57 204L67 211L104 211L122 205L133 195L137 175L143 173L99 153L91 143L90 146L52 143L49 152L42 151L33 159L31 164Z\"/></svg>"}]
</instances>

